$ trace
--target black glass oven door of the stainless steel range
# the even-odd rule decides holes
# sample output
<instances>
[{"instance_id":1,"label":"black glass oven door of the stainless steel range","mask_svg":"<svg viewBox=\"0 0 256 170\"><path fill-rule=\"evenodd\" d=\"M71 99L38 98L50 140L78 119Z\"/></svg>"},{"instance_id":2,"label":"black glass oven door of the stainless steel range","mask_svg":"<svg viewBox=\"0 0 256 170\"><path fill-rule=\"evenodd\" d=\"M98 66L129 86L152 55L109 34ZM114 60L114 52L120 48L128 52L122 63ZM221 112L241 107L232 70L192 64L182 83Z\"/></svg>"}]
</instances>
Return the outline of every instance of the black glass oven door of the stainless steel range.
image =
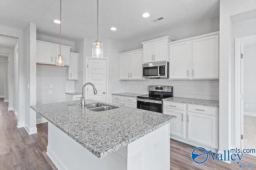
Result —
<instances>
[{"instance_id":1,"label":"black glass oven door of the stainless steel range","mask_svg":"<svg viewBox=\"0 0 256 170\"><path fill-rule=\"evenodd\" d=\"M162 101L137 99L137 108L162 113Z\"/></svg>"}]
</instances>

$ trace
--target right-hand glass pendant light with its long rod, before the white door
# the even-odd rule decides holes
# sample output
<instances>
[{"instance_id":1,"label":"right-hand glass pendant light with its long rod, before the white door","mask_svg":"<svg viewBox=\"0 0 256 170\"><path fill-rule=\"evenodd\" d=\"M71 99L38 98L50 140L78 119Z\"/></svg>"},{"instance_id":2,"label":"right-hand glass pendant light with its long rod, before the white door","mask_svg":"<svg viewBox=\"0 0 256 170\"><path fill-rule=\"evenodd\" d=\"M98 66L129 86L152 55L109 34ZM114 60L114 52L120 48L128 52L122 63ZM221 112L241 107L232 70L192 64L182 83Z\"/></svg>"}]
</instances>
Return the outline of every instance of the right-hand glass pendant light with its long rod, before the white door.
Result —
<instances>
[{"instance_id":1,"label":"right-hand glass pendant light with its long rod, before the white door","mask_svg":"<svg viewBox=\"0 0 256 170\"><path fill-rule=\"evenodd\" d=\"M103 43L99 41L99 0L97 0L97 41L92 43L92 57L103 57Z\"/></svg>"}]
</instances>

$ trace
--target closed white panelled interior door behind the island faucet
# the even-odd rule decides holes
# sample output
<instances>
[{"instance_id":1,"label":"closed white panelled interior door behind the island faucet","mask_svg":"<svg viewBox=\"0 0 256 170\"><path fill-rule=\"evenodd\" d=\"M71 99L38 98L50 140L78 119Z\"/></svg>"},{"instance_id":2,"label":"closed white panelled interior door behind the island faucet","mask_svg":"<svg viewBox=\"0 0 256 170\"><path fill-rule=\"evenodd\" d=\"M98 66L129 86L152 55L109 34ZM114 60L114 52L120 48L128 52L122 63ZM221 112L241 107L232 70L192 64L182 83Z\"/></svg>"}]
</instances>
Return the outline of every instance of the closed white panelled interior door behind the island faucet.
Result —
<instances>
[{"instance_id":1,"label":"closed white panelled interior door behind the island faucet","mask_svg":"<svg viewBox=\"0 0 256 170\"><path fill-rule=\"evenodd\" d=\"M88 59L88 82L93 83L98 91L94 95L91 85L86 87L86 99L106 102L106 59Z\"/></svg>"}]
</instances>

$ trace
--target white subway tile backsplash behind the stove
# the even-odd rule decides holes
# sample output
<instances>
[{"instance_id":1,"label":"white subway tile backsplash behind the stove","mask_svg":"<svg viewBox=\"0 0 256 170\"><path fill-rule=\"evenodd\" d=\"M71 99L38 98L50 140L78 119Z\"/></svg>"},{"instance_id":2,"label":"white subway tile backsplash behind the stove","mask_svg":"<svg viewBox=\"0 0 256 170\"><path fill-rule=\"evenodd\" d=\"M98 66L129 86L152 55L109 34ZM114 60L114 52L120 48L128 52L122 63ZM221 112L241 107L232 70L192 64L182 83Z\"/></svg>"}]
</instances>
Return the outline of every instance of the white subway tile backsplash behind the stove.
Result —
<instances>
[{"instance_id":1,"label":"white subway tile backsplash behind the stove","mask_svg":"<svg viewBox=\"0 0 256 170\"><path fill-rule=\"evenodd\" d=\"M174 97L219 100L219 80L149 79L121 81L124 92L148 94L149 85L173 86Z\"/></svg>"}]
</instances>

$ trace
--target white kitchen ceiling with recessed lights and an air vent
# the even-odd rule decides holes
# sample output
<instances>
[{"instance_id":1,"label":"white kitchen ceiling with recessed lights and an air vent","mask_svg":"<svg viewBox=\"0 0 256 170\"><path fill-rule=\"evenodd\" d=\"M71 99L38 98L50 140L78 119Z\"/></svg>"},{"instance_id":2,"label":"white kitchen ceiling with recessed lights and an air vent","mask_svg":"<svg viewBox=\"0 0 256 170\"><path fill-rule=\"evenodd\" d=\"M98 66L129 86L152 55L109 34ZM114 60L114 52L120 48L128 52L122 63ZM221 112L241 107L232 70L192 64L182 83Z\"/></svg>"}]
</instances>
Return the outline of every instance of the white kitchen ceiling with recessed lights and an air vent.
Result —
<instances>
[{"instance_id":1,"label":"white kitchen ceiling with recessed lights and an air vent","mask_svg":"<svg viewBox=\"0 0 256 170\"><path fill-rule=\"evenodd\" d=\"M59 0L1 0L2 25L58 37ZM99 0L100 38L134 39L219 16L219 0ZM150 17L142 18L144 12ZM159 17L159 22L152 22ZM110 27L115 26L113 32ZM62 0L62 36L96 38L96 0ZM172 36L172 35L170 35Z\"/></svg>"}]
</instances>

